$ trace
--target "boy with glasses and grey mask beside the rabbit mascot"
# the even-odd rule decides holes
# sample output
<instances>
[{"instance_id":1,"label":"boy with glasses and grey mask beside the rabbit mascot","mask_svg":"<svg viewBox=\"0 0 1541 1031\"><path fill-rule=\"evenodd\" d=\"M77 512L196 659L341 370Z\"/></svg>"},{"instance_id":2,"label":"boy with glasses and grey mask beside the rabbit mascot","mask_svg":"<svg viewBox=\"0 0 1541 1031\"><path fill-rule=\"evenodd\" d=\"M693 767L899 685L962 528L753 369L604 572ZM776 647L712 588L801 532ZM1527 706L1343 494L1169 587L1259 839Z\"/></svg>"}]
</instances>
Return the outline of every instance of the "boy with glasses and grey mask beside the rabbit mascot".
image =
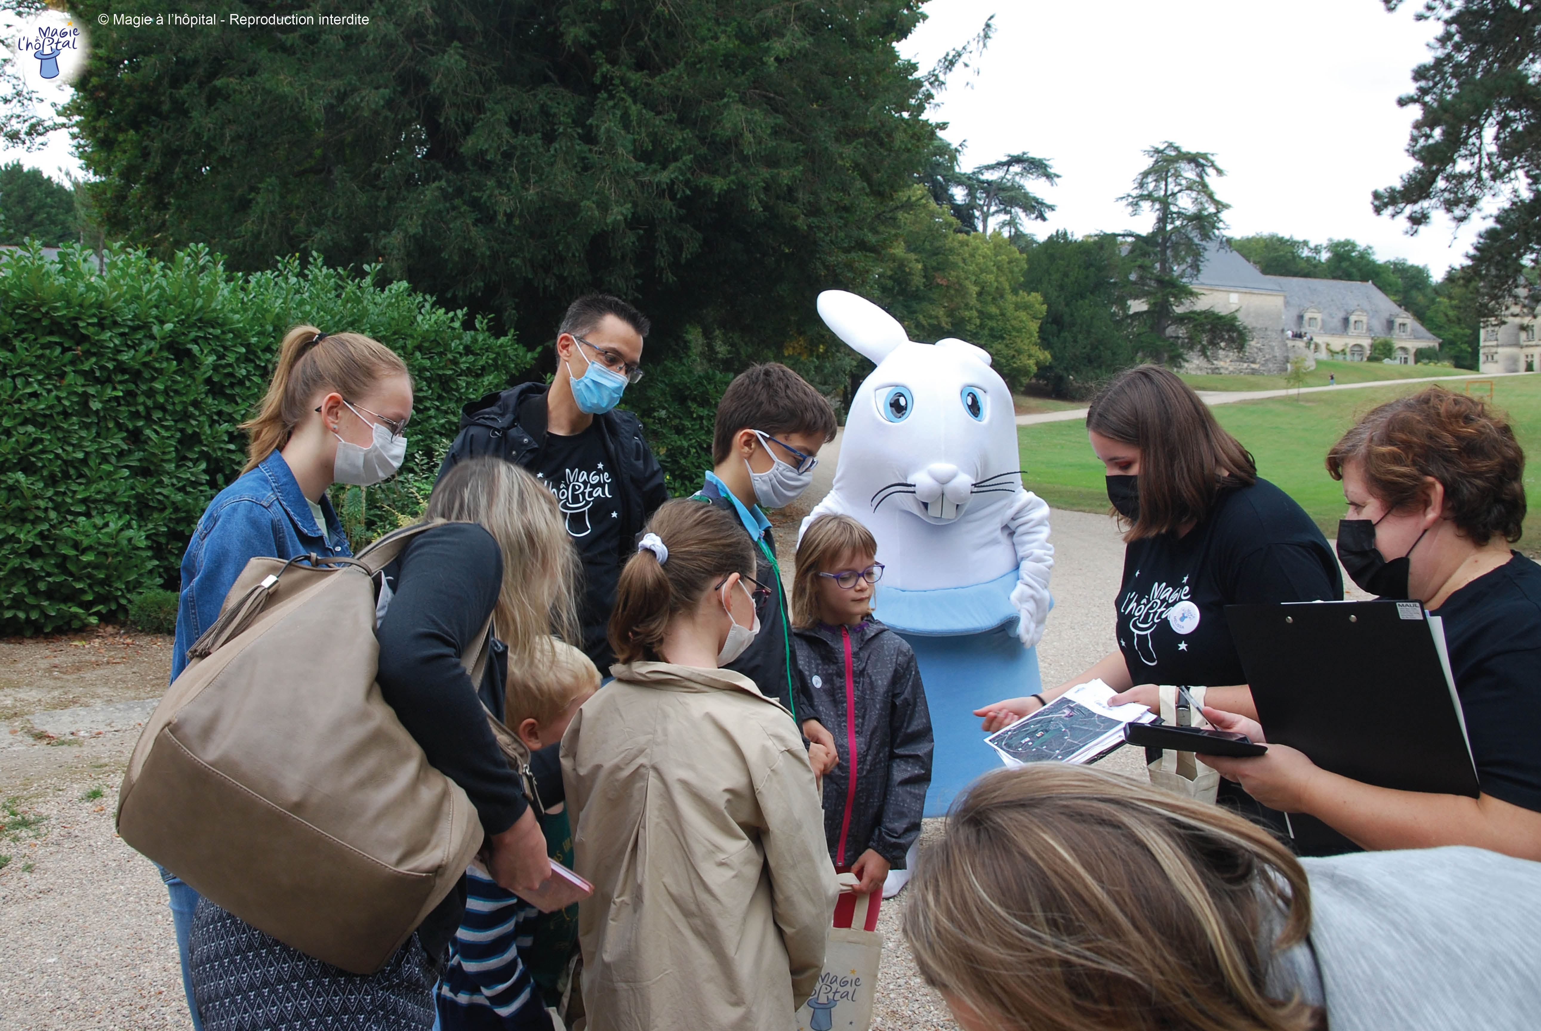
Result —
<instances>
[{"instance_id":1,"label":"boy with glasses and grey mask beside the rabbit mascot","mask_svg":"<svg viewBox=\"0 0 1541 1031\"><path fill-rule=\"evenodd\" d=\"M763 509L780 509L803 493L814 478L818 448L832 439L835 410L821 393L786 365L750 365L734 378L717 405L713 468L695 493L744 527L755 544L755 579L769 589L755 598L760 632L727 669L755 681L766 698L775 698L794 717L791 623L775 538Z\"/></svg>"}]
</instances>

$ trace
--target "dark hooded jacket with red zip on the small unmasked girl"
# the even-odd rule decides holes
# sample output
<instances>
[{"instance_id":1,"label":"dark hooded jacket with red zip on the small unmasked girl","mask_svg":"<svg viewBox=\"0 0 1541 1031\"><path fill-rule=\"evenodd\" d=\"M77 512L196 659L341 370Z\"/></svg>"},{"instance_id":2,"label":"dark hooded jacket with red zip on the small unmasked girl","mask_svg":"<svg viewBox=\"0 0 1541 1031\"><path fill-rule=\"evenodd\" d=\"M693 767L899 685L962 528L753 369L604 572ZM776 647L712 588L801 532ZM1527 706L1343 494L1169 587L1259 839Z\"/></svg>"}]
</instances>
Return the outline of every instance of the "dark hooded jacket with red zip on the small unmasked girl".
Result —
<instances>
[{"instance_id":1,"label":"dark hooded jacket with red zip on the small unmasked girl","mask_svg":"<svg viewBox=\"0 0 1541 1031\"><path fill-rule=\"evenodd\" d=\"M840 754L824 775L829 858L851 866L872 849L901 869L920 837L931 786L931 712L915 652L877 620L855 627L815 623L794 630L792 644L798 720L824 724Z\"/></svg>"}]
</instances>

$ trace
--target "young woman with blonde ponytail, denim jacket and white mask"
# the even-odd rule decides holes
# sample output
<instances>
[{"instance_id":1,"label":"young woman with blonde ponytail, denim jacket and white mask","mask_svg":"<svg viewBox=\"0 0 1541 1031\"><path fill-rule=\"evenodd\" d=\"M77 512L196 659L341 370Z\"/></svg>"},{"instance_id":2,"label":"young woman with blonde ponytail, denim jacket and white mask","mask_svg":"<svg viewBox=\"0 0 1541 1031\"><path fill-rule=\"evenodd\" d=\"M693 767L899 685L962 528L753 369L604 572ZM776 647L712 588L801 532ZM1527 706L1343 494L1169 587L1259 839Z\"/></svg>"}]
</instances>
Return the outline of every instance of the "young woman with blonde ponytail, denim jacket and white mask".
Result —
<instances>
[{"instance_id":1,"label":"young woman with blonde ponytail, denim jacket and white mask","mask_svg":"<svg viewBox=\"0 0 1541 1031\"><path fill-rule=\"evenodd\" d=\"M374 484L393 475L407 450L411 376L390 348L359 333L297 325L284 336L240 476L203 510L182 555L171 680L186 652L219 618L225 595L256 556L351 555L327 499L334 482ZM162 871L182 952L182 983L202 1031L188 966L197 892Z\"/></svg>"}]
</instances>

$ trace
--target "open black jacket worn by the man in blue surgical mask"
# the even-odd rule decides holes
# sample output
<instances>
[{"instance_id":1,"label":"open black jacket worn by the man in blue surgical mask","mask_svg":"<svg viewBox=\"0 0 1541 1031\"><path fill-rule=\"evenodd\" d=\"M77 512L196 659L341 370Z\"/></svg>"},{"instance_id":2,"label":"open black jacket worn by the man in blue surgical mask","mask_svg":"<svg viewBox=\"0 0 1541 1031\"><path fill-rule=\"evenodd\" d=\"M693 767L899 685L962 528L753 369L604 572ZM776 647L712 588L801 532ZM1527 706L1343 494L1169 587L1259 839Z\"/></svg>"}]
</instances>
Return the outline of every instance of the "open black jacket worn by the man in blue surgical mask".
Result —
<instances>
[{"instance_id":1,"label":"open black jacket worn by the man in blue surgical mask","mask_svg":"<svg viewBox=\"0 0 1541 1031\"><path fill-rule=\"evenodd\" d=\"M461 410L461 432L455 436L439 479L462 458L495 455L522 468L533 468L541 461L546 445L546 384L519 384L501 393L490 393ZM636 536L658 505L669 501L664 489L664 470L658 467L647 441L643 439L643 424L630 411L606 411L593 418L610 468L616 470L621 507L621 555L626 559L636 550ZM606 641L610 609L609 598L603 612L590 610L586 603L578 613L584 627L584 652L601 672L610 669L615 657Z\"/></svg>"}]
</instances>

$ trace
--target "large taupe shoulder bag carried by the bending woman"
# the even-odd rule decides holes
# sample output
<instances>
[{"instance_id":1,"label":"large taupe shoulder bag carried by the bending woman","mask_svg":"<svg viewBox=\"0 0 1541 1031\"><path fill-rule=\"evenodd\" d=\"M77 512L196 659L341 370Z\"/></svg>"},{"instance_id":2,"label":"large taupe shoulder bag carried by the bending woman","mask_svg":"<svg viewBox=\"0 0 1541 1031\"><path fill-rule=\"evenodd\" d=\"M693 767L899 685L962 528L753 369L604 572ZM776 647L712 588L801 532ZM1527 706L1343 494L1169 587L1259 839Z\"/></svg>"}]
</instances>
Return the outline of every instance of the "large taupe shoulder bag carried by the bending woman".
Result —
<instances>
[{"instance_id":1,"label":"large taupe shoulder bag carried by the bending woman","mask_svg":"<svg viewBox=\"0 0 1541 1031\"><path fill-rule=\"evenodd\" d=\"M378 971L482 843L374 683L371 578L435 524L354 559L254 558L145 724L119 791L136 851L259 931ZM479 669L482 644L465 655Z\"/></svg>"}]
</instances>

